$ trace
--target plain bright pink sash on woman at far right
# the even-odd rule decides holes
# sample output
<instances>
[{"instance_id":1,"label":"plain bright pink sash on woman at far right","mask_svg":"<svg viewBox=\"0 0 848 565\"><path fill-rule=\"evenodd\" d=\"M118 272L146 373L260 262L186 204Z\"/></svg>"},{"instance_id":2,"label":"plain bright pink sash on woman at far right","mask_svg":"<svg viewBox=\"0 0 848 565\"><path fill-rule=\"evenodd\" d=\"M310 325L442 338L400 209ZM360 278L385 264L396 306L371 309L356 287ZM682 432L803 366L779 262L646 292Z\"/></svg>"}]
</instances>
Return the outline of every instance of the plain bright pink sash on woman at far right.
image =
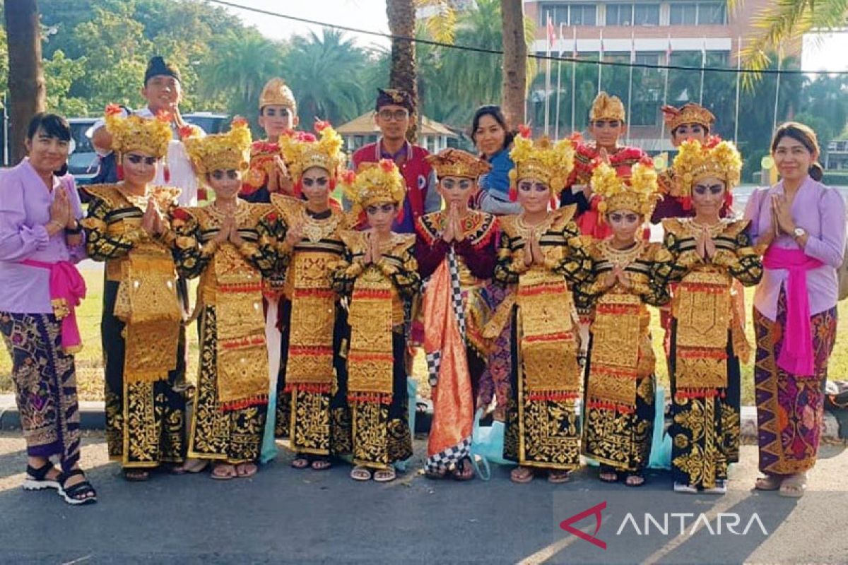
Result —
<instances>
[{"instance_id":1,"label":"plain bright pink sash on woman at far right","mask_svg":"<svg viewBox=\"0 0 848 565\"><path fill-rule=\"evenodd\" d=\"M769 246L762 258L766 269L786 269L789 280L786 288L786 329L784 345L780 348L778 367L789 374L808 377L815 372L810 326L810 297L806 293L806 271L823 263L807 257L800 249Z\"/></svg>"}]
</instances>

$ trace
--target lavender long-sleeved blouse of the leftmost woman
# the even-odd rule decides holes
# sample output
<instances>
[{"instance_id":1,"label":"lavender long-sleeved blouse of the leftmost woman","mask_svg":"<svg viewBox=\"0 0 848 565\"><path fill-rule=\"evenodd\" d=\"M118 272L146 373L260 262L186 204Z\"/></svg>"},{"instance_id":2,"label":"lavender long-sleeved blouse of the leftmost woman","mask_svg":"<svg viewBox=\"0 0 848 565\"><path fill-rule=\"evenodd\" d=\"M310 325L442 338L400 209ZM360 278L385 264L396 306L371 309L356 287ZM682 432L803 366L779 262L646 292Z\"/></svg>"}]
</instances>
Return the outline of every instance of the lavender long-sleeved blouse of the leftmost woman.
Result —
<instances>
[{"instance_id":1,"label":"lavender long-sleeved blouse of the leftmost woman","mask_svg":"<svg viewBox=\"0 0 848 565\"><path fill-rule=\"evenodd\" d=\"M47 235L44 224L50 220L56 191L67 191L76 219L82 219L74 177L53 177L53 183L53 191L48 191L29 159L0 174L0 312L53 313L50 271L21 261L77 263L85 257L85 246L67 245L64 230Z\"/></svg>"}]
</instances>

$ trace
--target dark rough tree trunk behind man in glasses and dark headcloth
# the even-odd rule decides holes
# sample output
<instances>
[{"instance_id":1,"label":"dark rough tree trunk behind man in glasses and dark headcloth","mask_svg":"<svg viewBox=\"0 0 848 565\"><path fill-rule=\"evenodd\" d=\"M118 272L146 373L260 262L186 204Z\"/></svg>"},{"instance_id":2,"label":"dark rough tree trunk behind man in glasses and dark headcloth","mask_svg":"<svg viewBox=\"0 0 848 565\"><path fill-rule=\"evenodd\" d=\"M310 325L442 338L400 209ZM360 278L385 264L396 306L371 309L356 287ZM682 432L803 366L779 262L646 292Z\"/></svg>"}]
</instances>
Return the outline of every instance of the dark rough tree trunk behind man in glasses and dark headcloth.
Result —
<instances>
[{"instance_id":1,"label":"dark rough tree trunk behind man in glasses and dark headcloth","mask_svg":"<svg viewBox=\"0 0 848 565\"><path fill-rule=\"evenodd\" d=\"M414 0L388 0L386 2L388 30L395 37L416 36L416 6ZM392 40L392 69L388 77L392 88L407 91L418 103L418 86L416 85L416 44L405 39ZM406 138L416 143L418 133L418 112L410 116L410 129Z\"/></svg>"}]
</instances>

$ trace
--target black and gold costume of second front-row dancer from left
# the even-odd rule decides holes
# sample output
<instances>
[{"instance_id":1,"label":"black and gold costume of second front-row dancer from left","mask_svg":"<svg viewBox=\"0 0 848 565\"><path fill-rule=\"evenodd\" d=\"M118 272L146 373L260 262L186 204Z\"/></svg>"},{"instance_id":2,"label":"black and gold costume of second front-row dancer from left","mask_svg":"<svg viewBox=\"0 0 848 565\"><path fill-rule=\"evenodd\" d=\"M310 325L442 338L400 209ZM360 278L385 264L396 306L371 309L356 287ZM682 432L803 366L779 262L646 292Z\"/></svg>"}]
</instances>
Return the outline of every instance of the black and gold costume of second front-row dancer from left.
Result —
<instances>
[{"instance_id":1,"label":"black and gold costume of second front-row dancer from left","mask_svg":"<svg viewBox=\"0 0 848 565\"><path fill-rule=\"evenodd\" d=\"M276 269L276 216L270 205L238 202L240 247L215 237L225 215L210 204L179 208L172 224L180 274L200 277L195 315L200 367L189 457L253 462L265 426L268 357L262 277Z\"/></svg>"}]
</instances>

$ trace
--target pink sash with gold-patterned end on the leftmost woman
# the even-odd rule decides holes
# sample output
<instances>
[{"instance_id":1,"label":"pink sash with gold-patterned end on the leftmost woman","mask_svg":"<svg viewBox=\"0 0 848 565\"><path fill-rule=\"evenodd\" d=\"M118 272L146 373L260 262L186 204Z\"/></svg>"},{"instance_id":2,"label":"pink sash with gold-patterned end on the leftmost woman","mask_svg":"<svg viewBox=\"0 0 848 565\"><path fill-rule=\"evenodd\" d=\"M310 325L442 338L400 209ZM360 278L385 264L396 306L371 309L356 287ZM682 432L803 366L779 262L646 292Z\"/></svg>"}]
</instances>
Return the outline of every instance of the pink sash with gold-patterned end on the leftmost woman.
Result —
<instances>
[{"instance_id":1,"label":"pink sash with gold-patterned end on the leftmost woman","mask_svg":"<svg viewBox=\"0 0 848 565\"><path fill-rule=\"evenodd\" d=\"M53 314L62 322L62 348L67 353L81 349L80 329L76 325L75 307L86 297L86 281L80 271L68 261L45 263L26 259L21 263L50 271L50 303Z\"/></svg>"}]
</instances>

